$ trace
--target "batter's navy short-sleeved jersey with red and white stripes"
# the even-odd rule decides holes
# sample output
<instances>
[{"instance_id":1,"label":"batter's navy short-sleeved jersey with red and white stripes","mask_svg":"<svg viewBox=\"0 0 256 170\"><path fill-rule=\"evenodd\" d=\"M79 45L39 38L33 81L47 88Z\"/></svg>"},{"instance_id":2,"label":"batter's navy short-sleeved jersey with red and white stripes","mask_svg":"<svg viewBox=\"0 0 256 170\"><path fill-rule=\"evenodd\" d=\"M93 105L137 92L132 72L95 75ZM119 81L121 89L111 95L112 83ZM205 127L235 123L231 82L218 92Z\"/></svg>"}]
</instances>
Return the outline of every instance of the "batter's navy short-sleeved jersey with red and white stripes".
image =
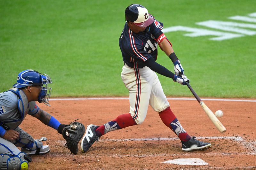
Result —
<instances>
[{"instance_id":1,"label":"batter's navy short-sleeved jersey with red and white stripes","mask_svg":"<svg viewBox=\"0 0 256 170\"><path fill-rule=\"evenodd\" d=\"M156 60L157 42L159 42L159 37L164 36L162 29L163 23L158 22L155 18L144 32L139 33L133 33L125 23L119 38L119 47L124 63L132 68L142 68L145 66L144 62L150 57Z\"/></svg>"}]
</instances>

